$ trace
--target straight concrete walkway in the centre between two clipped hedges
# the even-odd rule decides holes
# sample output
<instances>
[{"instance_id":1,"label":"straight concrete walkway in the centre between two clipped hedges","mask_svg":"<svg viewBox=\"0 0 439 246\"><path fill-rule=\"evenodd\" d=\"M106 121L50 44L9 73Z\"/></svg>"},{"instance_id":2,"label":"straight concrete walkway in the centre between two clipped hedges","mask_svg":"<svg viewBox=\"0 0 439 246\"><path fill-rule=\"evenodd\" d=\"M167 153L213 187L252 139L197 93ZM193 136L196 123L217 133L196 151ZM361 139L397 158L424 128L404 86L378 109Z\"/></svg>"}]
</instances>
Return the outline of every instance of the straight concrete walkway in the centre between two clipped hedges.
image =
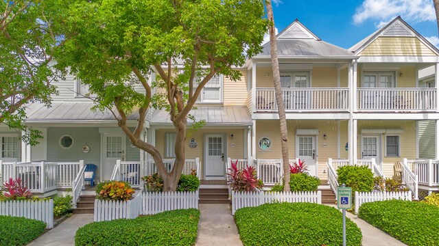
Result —
<instances>
[{"instance_id":1,"label":"straight concrete walkway in the centre between two clipped hedges","mask_svg":"<svg viewBox=\"0 0 439 246\"><path fill-rule=\"evenodd\" d=\"M200 204L199 209L201 217L195 245L242 245L228 204Z\"/></svg>"}]
</instances>

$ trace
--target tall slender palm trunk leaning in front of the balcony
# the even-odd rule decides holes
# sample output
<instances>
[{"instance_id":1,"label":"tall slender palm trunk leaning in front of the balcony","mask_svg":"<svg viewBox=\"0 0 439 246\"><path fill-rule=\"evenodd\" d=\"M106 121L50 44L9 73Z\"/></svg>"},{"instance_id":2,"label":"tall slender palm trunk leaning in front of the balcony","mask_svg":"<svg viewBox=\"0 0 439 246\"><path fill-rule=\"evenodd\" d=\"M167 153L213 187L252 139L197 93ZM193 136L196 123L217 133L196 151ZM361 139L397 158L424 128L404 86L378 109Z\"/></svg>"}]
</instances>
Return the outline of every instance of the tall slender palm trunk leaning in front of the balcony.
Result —
<instances>
[{"instance_id":1,"label":"tall slender palm trunk leaning in front of the balcony","mask_svg":"<svg viewBox=\"0 0 439 246\"><path fill-rule=\"evenodd\" d=\"M282 146L282 160L283 160L283 176L284 176L284 191L289 191L289 154L288 154L288 131L287 118L285 116L285 107L283 105L282 88L281 88L281 74L279 72L279 61L277 58L277 43L276 33L274 28L274 16L271 0L266 0L267 16L271 20L270 27L270 54L272 57L274 94L276 95L276 104L278 108L279 124L281 128L281 146Z\"/></svg>"}]
</instances>

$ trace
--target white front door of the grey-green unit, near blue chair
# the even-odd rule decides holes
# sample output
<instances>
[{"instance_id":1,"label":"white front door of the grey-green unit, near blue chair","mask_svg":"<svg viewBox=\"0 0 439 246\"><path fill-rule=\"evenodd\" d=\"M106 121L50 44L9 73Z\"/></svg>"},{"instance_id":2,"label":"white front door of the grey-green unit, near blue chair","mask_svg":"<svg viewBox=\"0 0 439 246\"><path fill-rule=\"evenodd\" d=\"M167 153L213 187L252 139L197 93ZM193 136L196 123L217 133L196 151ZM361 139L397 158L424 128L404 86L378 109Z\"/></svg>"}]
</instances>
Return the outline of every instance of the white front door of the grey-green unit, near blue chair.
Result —
<instances>
[{"instance_id":1,"label":"white front door of the grey-green unit, near blue chair","mask_svg":"<svg viewBox=\"0 0 439 246\"><path fill-rule=\"evenodd\" d=\"M102 179L110 180L116 161L125 160L126 136L124 134L104 134L104 165Z\"/></svg>"}]
</instances>

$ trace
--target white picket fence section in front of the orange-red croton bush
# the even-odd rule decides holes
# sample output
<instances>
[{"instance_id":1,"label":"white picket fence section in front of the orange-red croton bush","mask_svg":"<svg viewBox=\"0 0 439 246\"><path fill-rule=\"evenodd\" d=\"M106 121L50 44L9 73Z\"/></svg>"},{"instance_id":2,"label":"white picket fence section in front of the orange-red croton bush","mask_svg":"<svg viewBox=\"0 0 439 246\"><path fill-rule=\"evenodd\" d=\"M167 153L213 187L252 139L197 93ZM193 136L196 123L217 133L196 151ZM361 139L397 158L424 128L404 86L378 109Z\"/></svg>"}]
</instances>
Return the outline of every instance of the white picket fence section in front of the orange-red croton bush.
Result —
<instances>
[{"instance_id":1,"label":"white picket fence section in front of the orange-red croton bush","mask_svg":"<svg viewBox=\"0 0 439 246\"><path fill-rule=\"evenodd\" d=\"M130 201L95 200L94 221L134 219L138 217L142 206L142 195L143 193L139 192Z\"/></svg>"}]
</instances>

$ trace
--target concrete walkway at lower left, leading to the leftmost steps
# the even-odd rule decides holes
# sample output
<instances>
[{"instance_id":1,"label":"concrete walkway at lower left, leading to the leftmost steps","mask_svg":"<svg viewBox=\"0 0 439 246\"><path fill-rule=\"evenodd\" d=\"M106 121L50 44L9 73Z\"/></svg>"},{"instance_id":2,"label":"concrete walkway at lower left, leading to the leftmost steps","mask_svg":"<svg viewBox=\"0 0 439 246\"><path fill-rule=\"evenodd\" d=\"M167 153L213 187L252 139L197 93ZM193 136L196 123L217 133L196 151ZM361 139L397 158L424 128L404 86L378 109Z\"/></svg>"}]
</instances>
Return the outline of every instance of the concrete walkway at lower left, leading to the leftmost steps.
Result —
<instances>
[{"instance_id":1,"label":"concrete walkway at lower left, leading to the leftmost steps","mask_svg":"<svg viewBox=\"0 0 439 246\"><path fill-rule=\"evenodd\" d=\"M72 215L56 228L40 236L29 246L71 246L75 245L76 231L88 223L93 222L93 215Z\"/></svg>"}]
</instances>

